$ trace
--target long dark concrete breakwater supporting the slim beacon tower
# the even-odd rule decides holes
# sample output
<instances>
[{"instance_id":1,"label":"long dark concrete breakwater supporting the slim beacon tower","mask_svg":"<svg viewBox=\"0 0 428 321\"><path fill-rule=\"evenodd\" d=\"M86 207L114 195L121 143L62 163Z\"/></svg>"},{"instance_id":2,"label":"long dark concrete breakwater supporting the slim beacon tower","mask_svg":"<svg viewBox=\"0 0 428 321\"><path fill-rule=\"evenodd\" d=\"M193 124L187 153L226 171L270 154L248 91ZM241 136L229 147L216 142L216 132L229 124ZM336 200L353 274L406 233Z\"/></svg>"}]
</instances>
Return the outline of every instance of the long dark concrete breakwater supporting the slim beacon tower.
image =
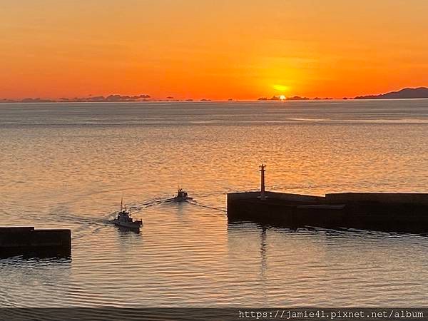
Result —
<instances>
[{"instance_id":1,"label":"long dark concrete breakwater supporting the slim beacon tower","mask_svg":"<svg viewBox=\"0 0 428 321\"><path fill-rule=\"evenodd\" d=\"M288 228L357 228L428 233L428 194L229 193L228 219L252 220Z\"/></svg>"}]
</instances>

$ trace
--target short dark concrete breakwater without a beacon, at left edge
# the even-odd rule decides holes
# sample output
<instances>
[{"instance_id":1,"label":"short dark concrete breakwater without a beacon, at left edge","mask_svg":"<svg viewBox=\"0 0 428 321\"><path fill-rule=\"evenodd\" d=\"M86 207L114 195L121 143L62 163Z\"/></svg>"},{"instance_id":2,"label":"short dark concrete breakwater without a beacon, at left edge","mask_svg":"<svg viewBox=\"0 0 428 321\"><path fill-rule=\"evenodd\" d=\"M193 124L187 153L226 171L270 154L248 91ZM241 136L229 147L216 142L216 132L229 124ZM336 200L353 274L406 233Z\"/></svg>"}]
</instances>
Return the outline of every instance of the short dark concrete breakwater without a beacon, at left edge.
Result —
<instances>
[{"instance_id":1,"label":"short dark concrete breakwater without a beacon, at left edge","mask_svg":"<svg viewBox=\"0 0 428 321\"><path fill-rule=\"evenodd\" d=\"M13 255L68 257L71 255L71 230L0 227L0 257Z\"/></svg>"}]
</instances>

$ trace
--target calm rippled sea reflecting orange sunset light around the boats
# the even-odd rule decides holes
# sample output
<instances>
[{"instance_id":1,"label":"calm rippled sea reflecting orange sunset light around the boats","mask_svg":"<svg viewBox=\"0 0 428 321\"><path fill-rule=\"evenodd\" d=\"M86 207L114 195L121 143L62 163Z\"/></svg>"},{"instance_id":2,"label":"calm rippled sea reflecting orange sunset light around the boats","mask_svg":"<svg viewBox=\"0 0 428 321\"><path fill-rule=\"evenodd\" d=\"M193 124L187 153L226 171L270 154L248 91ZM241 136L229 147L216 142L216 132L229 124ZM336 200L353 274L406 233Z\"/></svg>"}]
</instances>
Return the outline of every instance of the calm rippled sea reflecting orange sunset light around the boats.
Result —
<instances>
[{"instance_id":1,"label":"calm rippled sea reflecting orange sunset light around the boats","mask_svg":"<svg viewBox=\"0 0 428 321\"><path fill-rule=\"evenodd\" d=\"M0 225L73 253L0 260L0 307L426 306L427 237L231 225L225 199L262 162L270 190L427 193L427 132L428 100L3 103Z\"/></svg>"}]
</instances>

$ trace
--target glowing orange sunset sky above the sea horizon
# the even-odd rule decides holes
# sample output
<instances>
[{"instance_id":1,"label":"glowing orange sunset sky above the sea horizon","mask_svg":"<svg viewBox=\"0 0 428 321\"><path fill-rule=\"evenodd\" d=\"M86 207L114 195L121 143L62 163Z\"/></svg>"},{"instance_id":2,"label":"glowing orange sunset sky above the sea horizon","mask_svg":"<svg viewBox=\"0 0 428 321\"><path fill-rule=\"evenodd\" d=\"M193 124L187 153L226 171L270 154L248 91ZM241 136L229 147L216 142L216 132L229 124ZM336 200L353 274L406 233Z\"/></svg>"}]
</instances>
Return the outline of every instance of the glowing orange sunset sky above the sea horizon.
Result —
<instances>
[{"instance_id":1,"label":"glowing orange sunset sky above the sea horizon","mask_svg":"<svg viewBox=\"0 0 428 321\"><path fill-rule=\"evenodd\" d=\"M426 0L1 0L0 98L428 86Z\"/></svg>"}]
</instances>

